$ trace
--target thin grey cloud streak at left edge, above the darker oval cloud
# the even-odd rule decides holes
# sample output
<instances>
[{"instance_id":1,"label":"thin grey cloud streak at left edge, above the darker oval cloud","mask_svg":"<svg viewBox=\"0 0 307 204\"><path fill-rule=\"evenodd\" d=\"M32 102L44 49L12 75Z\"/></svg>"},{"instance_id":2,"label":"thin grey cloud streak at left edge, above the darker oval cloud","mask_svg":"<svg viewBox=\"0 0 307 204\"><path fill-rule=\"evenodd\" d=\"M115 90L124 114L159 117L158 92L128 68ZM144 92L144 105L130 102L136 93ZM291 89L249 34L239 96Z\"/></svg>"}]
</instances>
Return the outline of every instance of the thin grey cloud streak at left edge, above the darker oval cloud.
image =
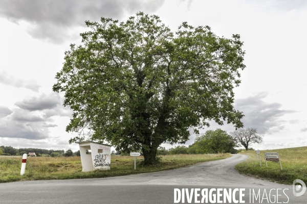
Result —
<instances>
[{"instance_id":1,"label":"thin grey cloud streak at left edge, above the darker oval cloud","mask_svg":"<svg viewBox=\"0 0 307 204\"><path fill-rule=\"evenodd\" d=\"M0 83L4 85L14 86L17 88L26 88L32 91L38 92L39 85L35 82L27 82L20 79L15 79L12 76L9 76L5 71L0 73Z\"/></svg>"}]
</instances>

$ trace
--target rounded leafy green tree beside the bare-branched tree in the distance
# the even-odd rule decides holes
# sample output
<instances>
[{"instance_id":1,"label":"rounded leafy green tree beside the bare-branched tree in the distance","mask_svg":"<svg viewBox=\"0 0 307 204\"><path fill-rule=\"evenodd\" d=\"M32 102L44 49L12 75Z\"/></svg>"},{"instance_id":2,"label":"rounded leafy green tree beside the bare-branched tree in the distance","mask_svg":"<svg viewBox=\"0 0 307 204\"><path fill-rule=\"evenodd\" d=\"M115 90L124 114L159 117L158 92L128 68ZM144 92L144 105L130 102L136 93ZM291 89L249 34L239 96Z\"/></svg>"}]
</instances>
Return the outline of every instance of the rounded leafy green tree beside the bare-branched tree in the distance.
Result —
<instances>
[{"instance_id":1,"label":"rounded leafy green tree beside the bare-branched tree in the distance","mask_svg":"<svg viewBox=\"0 0 307 204\"><path fill-rule=\"evenodd\" d=\"M231 136L221 129L208 130L203 135L196 136L194 142L196 154L231 152L235 145Z\"/></svg>"}]
</instances>

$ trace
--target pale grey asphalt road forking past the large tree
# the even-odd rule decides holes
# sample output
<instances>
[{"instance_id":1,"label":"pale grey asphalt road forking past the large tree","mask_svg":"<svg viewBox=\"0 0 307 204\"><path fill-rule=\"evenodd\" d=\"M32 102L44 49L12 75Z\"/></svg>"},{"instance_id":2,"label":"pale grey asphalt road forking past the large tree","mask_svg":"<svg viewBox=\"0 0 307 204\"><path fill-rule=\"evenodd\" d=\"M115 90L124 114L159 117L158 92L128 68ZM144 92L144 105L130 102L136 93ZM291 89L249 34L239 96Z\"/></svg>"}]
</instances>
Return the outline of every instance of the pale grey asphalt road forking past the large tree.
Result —
<instances>
[{"instance_id":1,"label":"pale grey asphalt road forking past the large tree","mask_svg":"<svg viewBox=\"0 0 307 204\"><path fill-rule=\"evenodd\" d=\"M174 170L104 179L5 183L0 184L0 203L173 203L174 199L179 199L178 192L174 198L175 188L180 189L180 192L183 188L187 189L188 193L193 189L191 202L188 202L185 195L184 203L194 203L194 190L198 188L200 196L196 194L196 198L199 201L203 198L203 189L204 194L206 189L208 194L210 189L216 189L212 190L212 196L207 196L213 201L208 199L208 203L214 203L218 188L227 191L231 189L231 192L236 188L242 189L245 203L307 203L307 192L296 197L293 195L292 185L271 183L239 174L234 166L247 158L245 155L233 155L225 160ZM223 202L223 192L219 192L222 193L222 203L235 203L236 200L240 203L239 192L235 193L232 202ZM179 203L183 203L182 197L180 199ZM215 201L217 202L216 197ZM205 197L204 202L206 203Z\"/></svg>"}]
</instances>

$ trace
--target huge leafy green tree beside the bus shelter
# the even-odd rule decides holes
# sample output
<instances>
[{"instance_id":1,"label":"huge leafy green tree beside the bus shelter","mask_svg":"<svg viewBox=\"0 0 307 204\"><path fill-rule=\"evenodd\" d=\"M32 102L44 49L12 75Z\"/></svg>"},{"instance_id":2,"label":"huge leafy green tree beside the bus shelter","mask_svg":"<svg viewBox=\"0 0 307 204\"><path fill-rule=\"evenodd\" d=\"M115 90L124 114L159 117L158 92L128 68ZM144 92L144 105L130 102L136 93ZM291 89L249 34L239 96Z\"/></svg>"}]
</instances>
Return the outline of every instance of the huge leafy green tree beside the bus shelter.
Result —
<instances>
[{"instance_id":1,"label":"huge leafy green tree beside the bus shelter","mask_svg":"<svg viewBox=\"0 0 307 204\"><path fill-rule=\"evenodd\" d=\"M66 131L90 130L90 139L120 151L141 149L155 163L163 142L185 143L208 121L242 127L233 88L244 69L243 42L215 36L187 22L172 33L156 15L142 12L126 22L85 21L92 30L71 44L53 91L65 92L73 110ZM84 135L70 143L84 140Z\"/></svg>"}]
</instances>

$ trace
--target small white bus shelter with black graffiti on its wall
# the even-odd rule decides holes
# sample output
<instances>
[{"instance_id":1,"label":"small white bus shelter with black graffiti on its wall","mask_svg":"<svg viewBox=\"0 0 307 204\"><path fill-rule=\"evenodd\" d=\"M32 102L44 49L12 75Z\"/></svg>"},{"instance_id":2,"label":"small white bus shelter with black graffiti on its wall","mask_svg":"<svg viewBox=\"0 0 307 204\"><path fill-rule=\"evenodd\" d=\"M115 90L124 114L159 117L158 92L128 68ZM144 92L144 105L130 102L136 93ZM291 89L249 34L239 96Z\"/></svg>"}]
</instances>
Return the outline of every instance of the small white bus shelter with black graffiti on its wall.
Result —
<instances>
[{"instance_id":1,"label":"small white bus shelter with black graffiti on its wall","mask_svg":"<svg viewBox=\"0 0 307 204\"><path fill-rule=\"evenodd\" d=\"M111 145L99 144L92 141L76 142L79 144L82 171L96 169L111 169ZM91 150L91 155L86 155L86 150Z\"/></svg>"}]
</instances>

